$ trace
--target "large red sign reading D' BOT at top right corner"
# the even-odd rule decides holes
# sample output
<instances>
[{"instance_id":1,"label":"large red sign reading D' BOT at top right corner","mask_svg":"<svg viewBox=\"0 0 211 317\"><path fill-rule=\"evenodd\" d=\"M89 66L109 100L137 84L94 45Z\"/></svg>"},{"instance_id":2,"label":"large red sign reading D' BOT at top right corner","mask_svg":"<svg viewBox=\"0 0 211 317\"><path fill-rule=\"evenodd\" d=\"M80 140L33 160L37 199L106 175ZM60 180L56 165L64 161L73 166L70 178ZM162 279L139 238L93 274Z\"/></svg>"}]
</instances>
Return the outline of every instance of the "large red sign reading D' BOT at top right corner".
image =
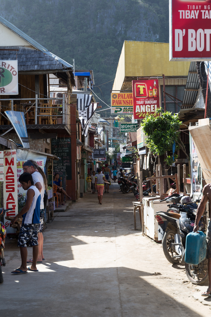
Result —
<instances>
[{"instance_id":1,"label":"large red sign reading D' BOT at top right corner","mask_svg":"<svg viewBox=\"0 0 211 317\"><path fill-rule=\"evenodd\" d=\"M211 0L170 0L170 61L211 60Z\"/></svg>"}]
</instances>

